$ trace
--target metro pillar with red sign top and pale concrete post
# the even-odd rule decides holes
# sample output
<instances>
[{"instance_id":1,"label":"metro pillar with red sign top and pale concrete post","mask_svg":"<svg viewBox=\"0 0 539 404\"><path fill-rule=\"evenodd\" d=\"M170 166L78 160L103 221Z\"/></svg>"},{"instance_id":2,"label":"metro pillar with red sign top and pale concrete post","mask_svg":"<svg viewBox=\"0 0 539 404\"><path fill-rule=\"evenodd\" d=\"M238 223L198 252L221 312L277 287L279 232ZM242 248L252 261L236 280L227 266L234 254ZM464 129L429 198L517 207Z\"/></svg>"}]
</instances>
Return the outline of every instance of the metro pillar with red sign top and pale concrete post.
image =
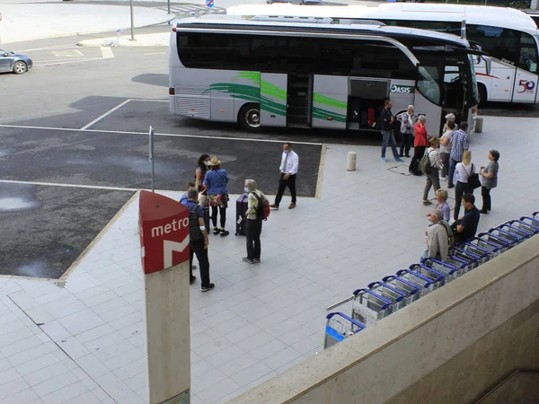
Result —
<instances>
[{"instance_id":1,"label":"metro pillar with red sign top and pale concrete post","mask_svg":"<svg viewBox=\"0 0 539 404\"><path fill-rule=\"evenodd\" d=\"M189 209L140 192L150 404L190 403Z\"/></svg>"}]
</instances>

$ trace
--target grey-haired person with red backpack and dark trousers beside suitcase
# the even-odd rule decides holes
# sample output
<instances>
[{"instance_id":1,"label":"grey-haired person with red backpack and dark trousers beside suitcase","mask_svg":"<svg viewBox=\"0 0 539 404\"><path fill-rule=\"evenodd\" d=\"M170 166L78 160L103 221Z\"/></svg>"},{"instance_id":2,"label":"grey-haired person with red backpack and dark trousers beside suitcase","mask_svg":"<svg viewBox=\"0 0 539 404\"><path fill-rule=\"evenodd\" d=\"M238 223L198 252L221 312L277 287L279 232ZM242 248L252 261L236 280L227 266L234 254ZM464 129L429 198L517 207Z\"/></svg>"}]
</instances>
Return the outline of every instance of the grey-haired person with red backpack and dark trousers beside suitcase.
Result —
<instances>
[{"instance_id":1,"label":"grey-haired person with red backpack and dark trousers beside suitcase","mask_svg":"<svg viewBox=\"0 0 539 404\"><path fill-rule=\"evenodd\" d=\"M249 264L261 262L261 232L262 232L262 212L264 202L268 200L260 189L256 188L255 180L245 180L244 188L249 194L247 212L245 212L245 236L247 238L247 257L243 261Z\"/></svg>"}]
</instances>

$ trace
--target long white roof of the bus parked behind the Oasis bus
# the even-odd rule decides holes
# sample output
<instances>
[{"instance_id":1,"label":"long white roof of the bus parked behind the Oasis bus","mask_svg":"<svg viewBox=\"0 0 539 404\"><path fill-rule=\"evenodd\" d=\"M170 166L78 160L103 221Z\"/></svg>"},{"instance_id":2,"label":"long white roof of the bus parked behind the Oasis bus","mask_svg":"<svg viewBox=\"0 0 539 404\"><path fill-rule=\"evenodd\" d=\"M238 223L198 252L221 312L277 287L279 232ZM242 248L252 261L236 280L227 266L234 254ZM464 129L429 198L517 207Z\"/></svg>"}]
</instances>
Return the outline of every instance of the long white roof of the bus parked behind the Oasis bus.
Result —
<instances>
[{"instance_id":1,"label":"long white roof of the bus parked behind the Oasis bus","mask_svg":"<svg viewBox=\"0 0 539 404\"><path fill-rule=\"evenodd\" d=\"M234 15L291 15L331 18L367 18L383 20L448 21L491 25L520 31L534 31L537 26L526 13L514 8L488 5L387 3L367 5L236 4L226 13Z\"/></svg>"}]
</instances>

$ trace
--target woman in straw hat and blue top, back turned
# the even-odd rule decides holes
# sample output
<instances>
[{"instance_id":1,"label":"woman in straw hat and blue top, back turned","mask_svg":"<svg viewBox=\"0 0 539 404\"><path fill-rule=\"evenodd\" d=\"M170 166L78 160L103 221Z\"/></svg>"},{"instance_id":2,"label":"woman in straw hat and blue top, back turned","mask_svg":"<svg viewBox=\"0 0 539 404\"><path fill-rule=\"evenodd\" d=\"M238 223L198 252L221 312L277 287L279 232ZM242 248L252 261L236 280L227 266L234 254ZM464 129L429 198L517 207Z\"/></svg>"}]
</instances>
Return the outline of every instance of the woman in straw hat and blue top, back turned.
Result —
<instances>
[{"instance_id":1,"label":"woman in straw hat and blue top, back turned","mask_svg":"<svg viewBox=\"0 0 539 404\"><path fill-rule=\"evenodd\" d=\"M204 177L204 186L207 189L209 206L211 206L211 221L214 225L214 234L227 236L230 232L225 230L226 207L228 207L228 174L221 168L221 162L214 155L209 161L209 171ZM217 227L217 214L221 217L221 228Z\"/></svg>"}]
</instances>

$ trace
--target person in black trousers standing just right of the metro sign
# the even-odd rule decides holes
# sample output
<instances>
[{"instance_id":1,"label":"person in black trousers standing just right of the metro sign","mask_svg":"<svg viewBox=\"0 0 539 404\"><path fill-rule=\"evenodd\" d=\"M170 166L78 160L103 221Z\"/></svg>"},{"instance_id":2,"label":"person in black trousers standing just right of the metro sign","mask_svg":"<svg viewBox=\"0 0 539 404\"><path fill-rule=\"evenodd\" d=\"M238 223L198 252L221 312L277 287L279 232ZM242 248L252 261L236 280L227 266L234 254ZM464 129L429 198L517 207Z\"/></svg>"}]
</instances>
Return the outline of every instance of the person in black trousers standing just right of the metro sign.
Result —
<instances>
[{"instance_id":1,"label":"person in black trousers standing just right of the metro sign","mask_svg":"<svg viewBox=\"0 0 539 404\"><path fill-rule=\"evenodd\" d=\"M200 290L208 292L216 285L209 282L208 232L204 225L204 214L199 206L199 191L191 188L187 191L187 199L181 202L189 209L189 246L199 259ZM191 278L191 281L193 279Z\"/></svg>"}]
</instances>

